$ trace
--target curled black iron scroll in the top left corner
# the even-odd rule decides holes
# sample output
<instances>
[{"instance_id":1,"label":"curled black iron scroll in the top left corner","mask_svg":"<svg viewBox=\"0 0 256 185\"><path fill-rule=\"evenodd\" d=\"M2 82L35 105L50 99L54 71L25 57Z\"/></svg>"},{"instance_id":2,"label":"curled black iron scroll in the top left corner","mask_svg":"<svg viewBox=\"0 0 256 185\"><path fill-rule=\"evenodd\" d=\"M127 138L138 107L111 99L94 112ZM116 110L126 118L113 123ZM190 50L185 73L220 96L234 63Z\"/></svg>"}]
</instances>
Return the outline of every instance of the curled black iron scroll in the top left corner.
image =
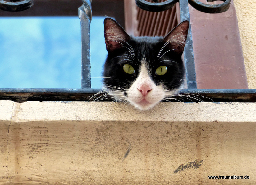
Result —
<instances>
[{"instance_id":1,"label":"curled black iron scroll in the top left corner","mask_svg":"<svg viewBox=\"0 0 256 185\"><path fill-rule=\"evenodd\" d=\"M16 1L20 0L11 0L11 2L0 0L0 9L9 12L20 12L29 9L34 5L34 0L24 0L15 3Z\"/></svg>"}]
</instances>

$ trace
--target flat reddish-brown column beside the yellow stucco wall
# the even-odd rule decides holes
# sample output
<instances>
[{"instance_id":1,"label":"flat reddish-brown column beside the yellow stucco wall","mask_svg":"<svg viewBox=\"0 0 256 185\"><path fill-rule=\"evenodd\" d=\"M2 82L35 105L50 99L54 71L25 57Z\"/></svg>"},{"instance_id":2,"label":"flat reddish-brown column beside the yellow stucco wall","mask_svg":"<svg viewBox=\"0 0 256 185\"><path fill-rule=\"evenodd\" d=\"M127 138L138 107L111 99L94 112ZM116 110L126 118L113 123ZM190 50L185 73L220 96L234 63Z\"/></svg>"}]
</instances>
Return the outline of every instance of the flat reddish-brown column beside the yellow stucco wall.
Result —
<instances>
[{"instance_id":1,"label":"flat reddish-brown column beside the yellow stucco wall","mask_svg":"<svg viewBox=\"0 0 256 185\"><path fill-rule=\"evenodd\" d=\"M233 2L224 13L203 13L191 6L189 11L197 88L248 89Z\"/></svg>"}]
</instances>

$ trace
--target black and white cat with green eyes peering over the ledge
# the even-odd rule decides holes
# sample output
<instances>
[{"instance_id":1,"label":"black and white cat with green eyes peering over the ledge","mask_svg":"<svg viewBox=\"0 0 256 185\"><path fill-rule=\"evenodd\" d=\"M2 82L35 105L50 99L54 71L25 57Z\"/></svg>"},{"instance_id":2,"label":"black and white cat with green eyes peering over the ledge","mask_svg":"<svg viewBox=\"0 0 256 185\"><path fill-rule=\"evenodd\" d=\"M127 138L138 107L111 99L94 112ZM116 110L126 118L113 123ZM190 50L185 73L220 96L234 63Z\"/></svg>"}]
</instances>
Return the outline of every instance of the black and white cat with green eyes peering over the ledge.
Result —
<instances>
[{"instance_id":1,"label":"black and white cat with green eyes peering over the ledge","mask_svg":"<svg viewBox=\"0 0 256 185\"><path fill-rule=\"evenodd\" d=\"M189 22L184 21L165 37L133 37L113 19L104 20L108 57L104 89L116 101L147 110L177 95L184 78L181 55Z\"/></svg>"}]
</instances>

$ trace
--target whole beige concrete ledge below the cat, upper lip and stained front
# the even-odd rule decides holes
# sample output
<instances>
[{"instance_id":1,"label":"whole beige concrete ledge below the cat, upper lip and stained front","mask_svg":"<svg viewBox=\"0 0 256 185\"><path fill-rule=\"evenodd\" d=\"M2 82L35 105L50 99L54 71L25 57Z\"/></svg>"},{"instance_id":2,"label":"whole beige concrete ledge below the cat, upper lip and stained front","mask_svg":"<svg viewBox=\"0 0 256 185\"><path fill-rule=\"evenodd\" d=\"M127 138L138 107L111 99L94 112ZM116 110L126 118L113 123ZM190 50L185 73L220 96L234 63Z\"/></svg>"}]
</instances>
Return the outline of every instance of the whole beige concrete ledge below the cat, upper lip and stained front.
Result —
<instances>
[{"instance_id":1,"label":"whole beige concrete ledge below the cat, upper lip and stained front","mask_svg":"<svg viewBox=\"0 0 256 185\"><path fill-rule=\"evenodd\" d=\"M256 183L255 103L0 101L0 183ZM208 179L250 176L250 179Z\"/></svg>"}]
</instances>

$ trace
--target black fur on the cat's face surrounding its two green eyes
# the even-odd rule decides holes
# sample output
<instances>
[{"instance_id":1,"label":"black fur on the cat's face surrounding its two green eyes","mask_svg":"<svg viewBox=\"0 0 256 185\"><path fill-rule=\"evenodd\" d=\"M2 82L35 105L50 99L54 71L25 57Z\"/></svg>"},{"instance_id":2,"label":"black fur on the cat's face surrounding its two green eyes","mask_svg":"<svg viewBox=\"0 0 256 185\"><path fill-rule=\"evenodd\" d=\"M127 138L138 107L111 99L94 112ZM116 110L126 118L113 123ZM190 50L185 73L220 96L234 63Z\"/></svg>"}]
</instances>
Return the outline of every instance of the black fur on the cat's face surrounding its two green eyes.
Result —
<instances>
[{"instance_id":1,"label":"black fur on the cat's face surrounding its two green eyes","mask_svg":"<svg viewBox=\"0 0 256 185\"><path fill-rule=\"evenodd\" d=\"M135 53L135 60L133 62L126 62L124 54L129 54L126 48L121 47L115 50L113 53L109 53L104 65L103 76L111 77L104 78L105 85L121 87L129 89L132 81L134 81L139 73L141 60L145 56L148 62L148 68L150 70L151 78L156 85L160 83L164 84L167 90L179 88L182 84L180 79L184 78L184 64L181 59L181 54L175 53L175 51L169 51L160 59L157 59L157 55L164 45L163 37L131 37L127 41L133 48ZM128 46L127 46L128 47ZM171 50L170 47L165 47L162 53ZM123 61L122 61L123 60ZM172 60L163 61L163 60ZM159 63L160 61L163 61ZM127 74L123 70L123 65L127 63L134 67L135 74ZM155 74L156 69L159 66L167 66L168 72L162 76Z\"/></svg>"}]
</instances>

